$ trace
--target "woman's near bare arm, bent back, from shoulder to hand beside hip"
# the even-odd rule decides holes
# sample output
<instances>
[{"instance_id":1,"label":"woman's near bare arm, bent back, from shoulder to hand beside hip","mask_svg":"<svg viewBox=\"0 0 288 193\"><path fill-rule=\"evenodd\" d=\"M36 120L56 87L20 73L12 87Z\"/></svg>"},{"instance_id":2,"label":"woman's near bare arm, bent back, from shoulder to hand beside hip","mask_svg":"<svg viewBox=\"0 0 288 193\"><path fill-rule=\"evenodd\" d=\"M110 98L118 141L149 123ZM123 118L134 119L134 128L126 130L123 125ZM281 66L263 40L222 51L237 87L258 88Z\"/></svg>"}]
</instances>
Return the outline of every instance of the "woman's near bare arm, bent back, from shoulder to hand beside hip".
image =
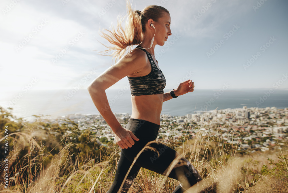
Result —
<instances>
[{"instance_id":1,"label":"woman's near bare arm, bent back, from shoulder to hand beside hip","mask_svg":"<svg viewBox=\"0 0 288 193\"><path fill-rule=\"evenodd\" d=\"M133 50L134 51L134 50ZM122 148L132 147L134 140L139 140L132 131L121 126L111 111L105 90L123 77L139 72L147 63L146 53L141 50L126 54L115 65L100 74L89 86L88 91L92 101L107 124L115 134L115 141ZM145 55L144 55L145 54Z\"/></svg>"}]
</instances>

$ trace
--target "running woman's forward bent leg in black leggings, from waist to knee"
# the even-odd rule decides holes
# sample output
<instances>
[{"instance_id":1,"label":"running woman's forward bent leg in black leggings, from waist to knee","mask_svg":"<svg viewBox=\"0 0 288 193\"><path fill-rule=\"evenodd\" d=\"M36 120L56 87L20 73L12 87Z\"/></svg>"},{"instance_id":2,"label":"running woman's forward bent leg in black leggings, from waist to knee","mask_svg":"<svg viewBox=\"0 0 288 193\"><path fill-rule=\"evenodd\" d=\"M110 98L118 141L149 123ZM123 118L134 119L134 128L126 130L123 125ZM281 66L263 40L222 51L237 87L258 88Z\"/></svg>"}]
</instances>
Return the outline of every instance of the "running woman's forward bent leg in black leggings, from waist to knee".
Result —
<instances>
[{"instance_id":1,"label":"running woman's forward bent leg in black leggings, from waist to knee","mask_svg":"<svg viewBox=\"0 0 288 193\"><path fill-rule=\"evenodd\" d=\"M128 149L122 149L122 154L130 161L133 162L137 154L142 150L142 148L149 142L156 139L158 134L158 129L160 125L139 120L131 119L127 124L127 129L131 130L134 135L139 138L139 141L134 141L135 144ZM163 143L154 141L149 144L149 147L154 148L159 152L159 155L152 151L151 149L144 150L134 165L155 171L162 175L169 173L169 166L175 159L175 165L170 168L170 173L168 177L177 179L181 182L183 188L179 188L178 192L184 192L185 189L190 188L197 182L201 181L198 171L192 166L192 164L177 153L172 148L166 146Z\"/></svg>"}]
</instances>

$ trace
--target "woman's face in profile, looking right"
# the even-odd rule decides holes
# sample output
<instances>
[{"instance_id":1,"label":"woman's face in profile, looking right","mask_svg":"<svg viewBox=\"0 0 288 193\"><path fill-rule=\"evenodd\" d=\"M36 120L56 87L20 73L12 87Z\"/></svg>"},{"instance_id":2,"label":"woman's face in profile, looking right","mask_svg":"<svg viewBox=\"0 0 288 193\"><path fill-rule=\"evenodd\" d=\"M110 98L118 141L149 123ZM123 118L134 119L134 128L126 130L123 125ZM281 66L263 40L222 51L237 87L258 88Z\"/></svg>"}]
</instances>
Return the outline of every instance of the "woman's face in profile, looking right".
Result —
<instances>
[{"instance_id":1,"label":"woman's face in profile, looking right","mask_svg":"<svg viewBox=\"0 0 288 193\"><path fill-rule=\"evenodd\" d=\"M159 18L158 22L153 22L156 29L154 41L159 46L163 46L169 35L172 35L170 30L171 17L170 14L164 12L163 16Z\"/></svg>"}]
</instances>

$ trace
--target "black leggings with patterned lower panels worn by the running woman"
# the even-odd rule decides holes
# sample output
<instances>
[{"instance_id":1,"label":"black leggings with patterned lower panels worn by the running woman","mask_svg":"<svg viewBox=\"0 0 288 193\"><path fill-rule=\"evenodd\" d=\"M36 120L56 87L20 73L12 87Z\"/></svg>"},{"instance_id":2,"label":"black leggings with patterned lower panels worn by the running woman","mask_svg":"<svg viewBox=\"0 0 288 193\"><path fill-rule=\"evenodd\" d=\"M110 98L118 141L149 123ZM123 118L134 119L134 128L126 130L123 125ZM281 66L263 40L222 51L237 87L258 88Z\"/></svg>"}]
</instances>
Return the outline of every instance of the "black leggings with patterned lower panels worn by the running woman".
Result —
<instances>
[{"instance_id":1,"label":"black leggings with patterned lower panels worn by the running woman","mask_svg":"<svg viewBox=\"0 0 288 193\"><path fill-rule=\"evenodd\" d=\"M133 134L139 138L139 140L134 140L135 144L132 145L132 147L122 149L121 156L118 160L114 181L107 193L118 192L134 158L148 142L154 141L157 138L160 125L130 117L125 128L131 130ZM194 166L192 166L187 159L185 159L175 150L158 141L152 142L149 144L149 146L154 147L159 152L159 156L155 151L150 149L144 150L132 166L132 169L124 182L121 193L128 192L128 189L132 185L134 179L137 177L141 167L165 175L167 173L168 166L177 156L180 156L180 160L168 175L168 177L177 179L181 182L173 193L182 193L185 191L185 189L190 188L202 180Z\"/></svg>"}]
</instances>

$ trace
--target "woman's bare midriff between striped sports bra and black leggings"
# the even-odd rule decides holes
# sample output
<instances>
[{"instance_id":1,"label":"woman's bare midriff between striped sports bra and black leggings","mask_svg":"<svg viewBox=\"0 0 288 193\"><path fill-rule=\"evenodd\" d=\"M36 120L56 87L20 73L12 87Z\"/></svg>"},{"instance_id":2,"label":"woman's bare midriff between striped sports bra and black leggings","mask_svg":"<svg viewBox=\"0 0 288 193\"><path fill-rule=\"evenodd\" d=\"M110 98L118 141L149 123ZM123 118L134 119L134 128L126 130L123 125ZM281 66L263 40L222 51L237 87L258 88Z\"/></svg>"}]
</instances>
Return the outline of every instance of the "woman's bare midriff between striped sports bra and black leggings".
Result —
<instances>
[{"instance_id":1,"label":"woman's bare midriff between striped sports bra and black leggings","mask_svg":"<svg viewBox=\"0 0 288 193\"><path fill-rule=\"evenodd\" d=\"M132 96L132 114L134 119L142 119L160 125L163 94Z\"/></svg>"}]
</instances>

